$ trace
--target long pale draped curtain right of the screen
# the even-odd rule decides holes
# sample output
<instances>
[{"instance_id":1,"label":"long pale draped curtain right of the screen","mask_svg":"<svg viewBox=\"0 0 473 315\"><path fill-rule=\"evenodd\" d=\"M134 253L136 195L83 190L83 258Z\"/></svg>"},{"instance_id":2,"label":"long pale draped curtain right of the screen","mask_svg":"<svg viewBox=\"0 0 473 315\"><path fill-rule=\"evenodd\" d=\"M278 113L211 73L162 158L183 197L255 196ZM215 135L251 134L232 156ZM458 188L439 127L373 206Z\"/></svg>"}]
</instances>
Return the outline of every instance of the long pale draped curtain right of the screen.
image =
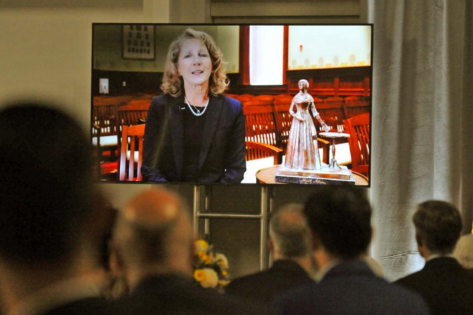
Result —
<instances>
[{"instance_id":1,"label":"long pale draped curtain right of the screen","mask_svg":"<svg viewBox=\"0 0 473 315\"><path fill-rule=\"evenodd\" d=\"M372 255L419 270L412 214L427 199L473 217L472 0L374 0Z\"/></svg>"}]
</instances>

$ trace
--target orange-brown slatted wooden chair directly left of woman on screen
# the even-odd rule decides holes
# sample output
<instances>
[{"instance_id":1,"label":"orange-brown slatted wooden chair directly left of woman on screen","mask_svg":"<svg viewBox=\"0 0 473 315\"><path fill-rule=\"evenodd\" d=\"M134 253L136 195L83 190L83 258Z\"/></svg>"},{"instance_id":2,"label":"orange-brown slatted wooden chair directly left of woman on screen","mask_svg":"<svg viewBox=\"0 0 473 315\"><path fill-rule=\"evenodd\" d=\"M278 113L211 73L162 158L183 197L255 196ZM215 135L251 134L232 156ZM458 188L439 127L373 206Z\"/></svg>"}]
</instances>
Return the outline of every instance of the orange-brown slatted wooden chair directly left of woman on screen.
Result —
<instances>
[{"instance_id":1,"label":"orange-brown slatted wooden chair directly left of woman on screen","mask_svg":"<svg viewBox=\"0 0 473 315\"><path fill-rule=\"evenodd\" d=\"M123 125L120 149L120 181L142 180L141 162L143 160L144 127L144 124L135 126ZM128 138L130 138L130 150L128 149ZM128 173L126 171L127 165Z\"/></svg>"}]
</instances>

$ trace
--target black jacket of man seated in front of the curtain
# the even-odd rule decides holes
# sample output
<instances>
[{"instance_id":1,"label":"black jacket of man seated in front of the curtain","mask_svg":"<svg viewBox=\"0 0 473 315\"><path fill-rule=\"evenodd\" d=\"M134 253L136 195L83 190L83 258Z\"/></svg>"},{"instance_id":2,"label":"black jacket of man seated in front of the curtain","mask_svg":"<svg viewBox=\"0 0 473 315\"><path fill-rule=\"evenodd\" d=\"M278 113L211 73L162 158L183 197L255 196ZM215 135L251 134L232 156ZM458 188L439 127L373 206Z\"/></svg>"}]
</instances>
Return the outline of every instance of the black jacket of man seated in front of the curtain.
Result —
<instances>
[{"instance_id":1,"label":"black jacket of man seated in front of the curtain","mask_svg":"<svg viewBox=\"0 0 473 315\"><path fill-rule=\"evenodd\" d=\"M473 314L473 278L455 258L429 260L396 283L422 295L434 314Z\"/></svg>"}]
</instances>

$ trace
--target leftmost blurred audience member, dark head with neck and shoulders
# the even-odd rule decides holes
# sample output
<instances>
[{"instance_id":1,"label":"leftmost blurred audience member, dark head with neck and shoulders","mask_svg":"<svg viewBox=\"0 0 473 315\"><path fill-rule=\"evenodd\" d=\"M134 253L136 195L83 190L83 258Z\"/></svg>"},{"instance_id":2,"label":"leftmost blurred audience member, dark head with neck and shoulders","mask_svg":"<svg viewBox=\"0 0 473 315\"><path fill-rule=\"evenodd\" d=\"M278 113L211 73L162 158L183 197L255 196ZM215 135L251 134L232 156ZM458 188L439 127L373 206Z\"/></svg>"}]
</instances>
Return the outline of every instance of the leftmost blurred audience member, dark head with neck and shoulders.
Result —
<instances>
[{"instance_id":1,"label":"leftmost blurred audience member, dark head with neck and shoulders","mask_svg":"<svg viewBox=\"0 0 473 315\"><path fill-rule=\"evenodd\" d=\"M0 296L8 314L105 305L97 297L104 228L89 138L55 107L0 111Z\"/></svg>"}]
</instances>

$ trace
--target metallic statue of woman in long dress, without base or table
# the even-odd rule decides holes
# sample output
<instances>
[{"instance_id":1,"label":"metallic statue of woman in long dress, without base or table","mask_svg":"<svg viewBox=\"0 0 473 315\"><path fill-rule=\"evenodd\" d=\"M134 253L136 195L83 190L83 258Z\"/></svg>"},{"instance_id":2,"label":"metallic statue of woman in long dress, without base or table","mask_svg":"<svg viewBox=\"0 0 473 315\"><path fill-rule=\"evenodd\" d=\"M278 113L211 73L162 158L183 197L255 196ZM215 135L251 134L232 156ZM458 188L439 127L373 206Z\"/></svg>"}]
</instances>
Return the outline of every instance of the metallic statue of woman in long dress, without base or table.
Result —
<instances>
[{"instance_id":1,"label":"metallic statue of woman in long dress, without base or table","mask_svg":"<svg viewBox=\"0 0 473 315\"><path fill-rule=\"evenodd\" d=\"M294 96L289 113L293 117L286 150L284 166L293 169L321 169L317 148L317 132L309 111L317 118L322 128L328 132L329 127L315 110L314 99L307 93L309 82L299 81L299 93ZM294 111L296 107L296 112ZM315 140L315 141L314 141Z\"/></svg>"}]
</instances>

